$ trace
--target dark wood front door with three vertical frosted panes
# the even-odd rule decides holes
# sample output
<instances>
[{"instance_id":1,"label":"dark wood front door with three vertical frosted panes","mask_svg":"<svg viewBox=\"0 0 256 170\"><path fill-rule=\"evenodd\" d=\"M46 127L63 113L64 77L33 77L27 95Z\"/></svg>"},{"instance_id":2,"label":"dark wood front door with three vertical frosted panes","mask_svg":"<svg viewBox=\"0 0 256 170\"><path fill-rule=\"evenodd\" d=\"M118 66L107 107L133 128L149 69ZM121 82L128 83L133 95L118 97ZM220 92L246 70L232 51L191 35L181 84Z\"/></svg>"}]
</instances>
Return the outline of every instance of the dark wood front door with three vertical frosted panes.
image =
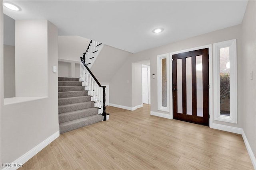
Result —
<instances>
[{"instance_id":1,"label":"dark wood front door with three vertical frosted panes","mask_svg":"<svg viewBox=\"0 0 256 170\"><path fill-rule=\"evenodd\" d=\"M173 118L209 125L208 48L172 55Z\"/></svg>"}]
</instances>

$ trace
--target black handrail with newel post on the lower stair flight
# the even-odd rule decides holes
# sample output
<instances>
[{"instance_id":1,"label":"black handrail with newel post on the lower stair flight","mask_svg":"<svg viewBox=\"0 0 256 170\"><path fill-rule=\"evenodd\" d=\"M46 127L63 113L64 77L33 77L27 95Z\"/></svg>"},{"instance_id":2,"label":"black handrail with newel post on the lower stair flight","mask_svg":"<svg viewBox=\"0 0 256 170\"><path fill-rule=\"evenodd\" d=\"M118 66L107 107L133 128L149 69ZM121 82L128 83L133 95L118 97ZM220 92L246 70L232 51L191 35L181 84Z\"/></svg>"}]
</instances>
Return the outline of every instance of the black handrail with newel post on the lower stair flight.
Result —
<instances>
[{"instance_id":1,"label":"black handrail with newel post on the lower stair flight","mask_svg":"<svg viewBox=\"0 0 256 170\"><path fill-rule=\"evenodd\" d=\"M90 46L90 45L89 45ZM88 48L89 48L89 46L88 46ZM84 54L85 55L85 54ZM88 66L85 64L85 57L84 57L84 55L83 55L83 57L80 57L80 59L81 59L81 63L83 64L83 66L86 68L86 70L88 71L88 73L92 76L92 78L94 79L94 81L98 84L98 86L100 87L100 88L103 88L103 101L100 101L100 102L103 102L103 106L101 106L102 108L103 108L103 112L102 112L102 116L103 116L103 121L106 121L106 115L107 115L107 113L106 113L106 92L105 92L105 90L106 90L106 86L102 86L101 84L100 84L100 82L97 80L97 78L94 76L94 74L92 74L92 72L91 72L91 70L88 68ZM82 74L82 67L81 67L81 74ZM82 78L82 77L81 77ZM83 78L82 78L83 79ZM85 81L85 80L83 80L83 81ZM93 90L94 91L94 90ZM97 95L97 94L96 94ZM99 94L100 95L100 94ZM94 97L96 97L96 96L94 96Z\"/></svg>"}]
</instances>

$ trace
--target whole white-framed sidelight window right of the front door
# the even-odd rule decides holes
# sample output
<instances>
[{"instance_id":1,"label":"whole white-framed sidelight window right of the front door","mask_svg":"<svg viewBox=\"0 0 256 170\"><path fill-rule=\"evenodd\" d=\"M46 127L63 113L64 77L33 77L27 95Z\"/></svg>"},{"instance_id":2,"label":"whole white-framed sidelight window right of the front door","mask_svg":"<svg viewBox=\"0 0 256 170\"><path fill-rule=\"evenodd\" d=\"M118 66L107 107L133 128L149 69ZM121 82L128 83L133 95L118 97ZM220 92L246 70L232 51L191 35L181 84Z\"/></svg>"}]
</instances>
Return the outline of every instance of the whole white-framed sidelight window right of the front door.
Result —
<instances>
[{"instance_id":1,"label":"whole white-framed sidelight window right of the front door","mask_svg":"<svg viewBox=\"0 0 256 170\"><path fill-rule=\"evenodd\" d=\"M237 123L236 39L214 43L213 48L214 119Z\"/></svg>"}]
</instances>

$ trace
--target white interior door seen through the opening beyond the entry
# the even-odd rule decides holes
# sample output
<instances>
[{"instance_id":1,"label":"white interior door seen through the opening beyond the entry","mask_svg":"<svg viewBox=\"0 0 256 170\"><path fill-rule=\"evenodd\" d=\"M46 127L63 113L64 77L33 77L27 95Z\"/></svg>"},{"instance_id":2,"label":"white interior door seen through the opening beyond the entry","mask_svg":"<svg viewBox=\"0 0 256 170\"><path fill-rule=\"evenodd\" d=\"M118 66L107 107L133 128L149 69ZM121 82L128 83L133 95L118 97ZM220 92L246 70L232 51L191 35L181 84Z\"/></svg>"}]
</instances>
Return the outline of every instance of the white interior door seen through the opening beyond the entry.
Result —
<instances>
[{"instance_id":1,"label":"white interior door seen through the opening beyond the entry","mask_svg":"<svg viewBox=\"0 0 256 170\"><path fill-rule=\"evenodd\" d=\"M142 66L142 103L148 103L148 67Z\"/></svg>"}]
</instances>

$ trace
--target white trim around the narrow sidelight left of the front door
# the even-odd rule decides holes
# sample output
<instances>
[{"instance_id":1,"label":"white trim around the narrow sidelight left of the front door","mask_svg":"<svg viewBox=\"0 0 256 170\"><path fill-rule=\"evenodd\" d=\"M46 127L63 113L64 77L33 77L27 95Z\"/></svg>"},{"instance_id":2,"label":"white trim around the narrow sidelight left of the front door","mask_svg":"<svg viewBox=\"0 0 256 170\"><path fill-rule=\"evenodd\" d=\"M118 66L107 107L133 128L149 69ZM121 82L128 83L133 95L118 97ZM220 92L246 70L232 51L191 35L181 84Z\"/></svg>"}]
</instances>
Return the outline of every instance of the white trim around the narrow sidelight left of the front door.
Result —
<instances>
[{"instance_id":1,"label":"white trim around the narrow sidelight left of the front door","mask_svg":"<svg viewBox=\"0 0 256 170\"><path fill-rule=\"evenodd\" d=\"M167 107L163 106L162 102L162 59L166 59L166 80L167 80ZM158 98L158 110L170 111L170 92L169 92L169 54L157 55L157 98Z\"/></svg>"}]
</instances>

